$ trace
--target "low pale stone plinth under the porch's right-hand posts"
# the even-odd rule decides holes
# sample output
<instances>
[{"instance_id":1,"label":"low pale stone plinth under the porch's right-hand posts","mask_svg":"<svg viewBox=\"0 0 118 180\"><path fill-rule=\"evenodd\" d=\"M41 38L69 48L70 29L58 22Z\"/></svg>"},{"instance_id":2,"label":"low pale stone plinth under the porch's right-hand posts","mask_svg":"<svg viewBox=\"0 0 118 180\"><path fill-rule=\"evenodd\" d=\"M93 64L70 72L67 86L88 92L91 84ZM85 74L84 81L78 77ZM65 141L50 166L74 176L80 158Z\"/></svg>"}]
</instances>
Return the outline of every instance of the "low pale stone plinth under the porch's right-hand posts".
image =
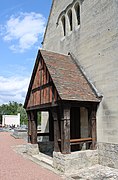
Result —
<instances>
[{"instance_id":1,"label":"low pale stone plinth under the porch's right-hand posts","mask_svg":"<svg viewBox=\"0 0 118 180\"><path fill-rule=\"evenodd\" d=\"M78 170L98 164L98 151L86 150L62 154L53 152L53 166L65 174L77 173Z\"/></svg>"}]
</instances>

